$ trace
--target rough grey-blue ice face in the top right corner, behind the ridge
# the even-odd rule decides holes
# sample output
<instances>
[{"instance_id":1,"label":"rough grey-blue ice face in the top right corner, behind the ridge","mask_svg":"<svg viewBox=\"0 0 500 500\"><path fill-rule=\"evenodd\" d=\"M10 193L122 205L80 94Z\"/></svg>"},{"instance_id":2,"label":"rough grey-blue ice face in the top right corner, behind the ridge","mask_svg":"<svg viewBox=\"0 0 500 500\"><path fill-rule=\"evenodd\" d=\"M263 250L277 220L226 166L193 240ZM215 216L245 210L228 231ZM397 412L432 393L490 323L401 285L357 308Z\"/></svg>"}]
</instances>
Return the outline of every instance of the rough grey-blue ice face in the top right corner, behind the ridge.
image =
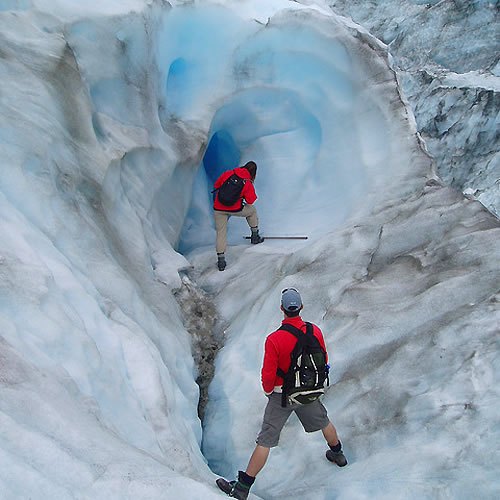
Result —
<instances>
[{"instance_id":1,"label":"rough grey-blue ice face in the top right corner, behind the ridge","mask_svg":"<svg viewBox=\"0 0 500 500\"><path fill-rule=\"evenodd\" d=\"M500 43L493 0L329 0L389 45L443 180L500 213Z\"/></svg>"}]
</instances>

